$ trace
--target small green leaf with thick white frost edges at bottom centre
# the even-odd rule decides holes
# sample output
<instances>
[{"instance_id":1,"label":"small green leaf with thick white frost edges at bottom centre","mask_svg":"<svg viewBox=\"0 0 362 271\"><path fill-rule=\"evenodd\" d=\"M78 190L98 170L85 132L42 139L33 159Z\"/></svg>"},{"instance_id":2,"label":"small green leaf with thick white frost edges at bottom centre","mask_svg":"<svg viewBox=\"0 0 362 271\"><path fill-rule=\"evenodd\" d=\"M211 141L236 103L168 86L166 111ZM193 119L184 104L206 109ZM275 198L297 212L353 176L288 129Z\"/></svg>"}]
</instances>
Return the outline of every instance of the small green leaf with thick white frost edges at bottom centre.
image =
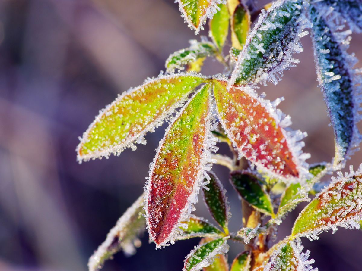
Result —
<instances>
[{"instance_id":1,"label":"small green leaf with thick white frost edges at bottom centre","mask_svg":"<svg viewBox=\"0 0 362 271\"><path fill-rule=\"evenodd\" d=\"M212 264L216 255L225 254L229 250L226 241L227 237L195 246L186 257L183 271L196 271Z\"/></svg>"}]
</instances>

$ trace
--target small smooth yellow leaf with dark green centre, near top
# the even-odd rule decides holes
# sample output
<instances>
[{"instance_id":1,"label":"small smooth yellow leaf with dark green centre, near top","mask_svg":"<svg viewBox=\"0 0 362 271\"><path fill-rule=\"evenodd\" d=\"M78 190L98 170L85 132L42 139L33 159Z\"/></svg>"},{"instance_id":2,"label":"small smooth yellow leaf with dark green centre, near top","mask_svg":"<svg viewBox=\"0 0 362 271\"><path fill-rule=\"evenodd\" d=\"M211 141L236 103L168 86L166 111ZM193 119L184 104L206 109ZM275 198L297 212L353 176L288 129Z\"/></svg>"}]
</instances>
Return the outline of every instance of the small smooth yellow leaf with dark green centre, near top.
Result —
<instances>
[{"instance_id":1,"label":"small smooth yellow leaf with dark green centre, near top","mask_svg":"<svg viewBox=\"0 0 362 271\"><path fill-rule=\"evenodd\" d=\"M248 7L241 2L234 10L231 18L231 42L236 49L243 49L247 41L251 25Z\"/></svg>"}]
</instances>

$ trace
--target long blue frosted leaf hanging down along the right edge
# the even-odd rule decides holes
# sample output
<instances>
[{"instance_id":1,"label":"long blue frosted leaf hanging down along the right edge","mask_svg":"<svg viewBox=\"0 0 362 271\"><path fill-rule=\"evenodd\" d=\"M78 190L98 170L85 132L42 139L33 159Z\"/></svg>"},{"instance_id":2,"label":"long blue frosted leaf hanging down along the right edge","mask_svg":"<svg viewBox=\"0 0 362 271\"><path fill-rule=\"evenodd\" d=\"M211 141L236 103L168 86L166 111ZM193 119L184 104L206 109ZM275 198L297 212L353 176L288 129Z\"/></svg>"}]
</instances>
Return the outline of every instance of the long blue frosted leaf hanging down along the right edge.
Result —
<instances>
[{"instance_id":1,"label":"long blue frosted leaf hanging down along the right edge","mask_svg":"<svg viewBox=\"0 0 362 271\"><path fill-rule=\"evenodd\" d=\"M334 167L339 169L361 141L356 124L360 120L361 86L358 84L362 80L353 69L357 60L346 52L349 32L338 32L332 14L324 18L322 14L328 14L329 10L321 7L315 5L310 8L312 40L319 87L334 130Z\"/></svg>"}]
</instances>

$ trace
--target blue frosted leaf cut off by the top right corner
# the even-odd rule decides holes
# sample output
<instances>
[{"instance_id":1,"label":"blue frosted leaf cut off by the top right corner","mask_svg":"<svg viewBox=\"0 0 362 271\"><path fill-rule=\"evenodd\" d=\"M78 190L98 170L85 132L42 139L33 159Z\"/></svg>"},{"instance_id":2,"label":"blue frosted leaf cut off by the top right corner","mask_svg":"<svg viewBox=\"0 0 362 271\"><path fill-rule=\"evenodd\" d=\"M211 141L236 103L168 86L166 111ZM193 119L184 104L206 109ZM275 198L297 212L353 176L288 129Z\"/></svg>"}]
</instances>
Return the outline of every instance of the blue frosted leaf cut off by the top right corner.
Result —
<instances>
[{"instance_id":1,"label":"blue frosted leaf cut off by the top right corner","mask_svg":"<svg viewBox=\"0 0 362 271\"><path fill-rule=\"evenodd\" d=\"M362 33L362 1L361 0L322 0L320 4L340 13L356 33Z\"/></svg>"}]
</instances>

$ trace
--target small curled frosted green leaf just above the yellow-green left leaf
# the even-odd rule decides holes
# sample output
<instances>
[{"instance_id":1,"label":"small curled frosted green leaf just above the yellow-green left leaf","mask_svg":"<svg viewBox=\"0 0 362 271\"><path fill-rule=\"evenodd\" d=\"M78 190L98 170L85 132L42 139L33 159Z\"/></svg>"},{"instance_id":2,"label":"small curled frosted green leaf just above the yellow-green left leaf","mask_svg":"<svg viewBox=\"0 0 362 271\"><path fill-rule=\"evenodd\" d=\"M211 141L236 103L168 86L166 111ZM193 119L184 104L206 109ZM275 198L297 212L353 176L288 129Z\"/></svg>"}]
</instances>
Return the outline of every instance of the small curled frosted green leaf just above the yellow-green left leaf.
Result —
<instances>
[{"instance_id":1,"label":"small curled frosted green leaf just above the yellow-green left leaf","mask_svg":"<svg viewBox=\"0 0 362 271\"><path fill-rule=\"evenodd\" d=\"M194 63L199 59L205 59L215 54L216 48L214 44L203 39L201 42L190 40L190 47L174 52L168 57L165 68L168 73L175 70L184 70L184 66Z\"/></svg>"}]
</instances>

